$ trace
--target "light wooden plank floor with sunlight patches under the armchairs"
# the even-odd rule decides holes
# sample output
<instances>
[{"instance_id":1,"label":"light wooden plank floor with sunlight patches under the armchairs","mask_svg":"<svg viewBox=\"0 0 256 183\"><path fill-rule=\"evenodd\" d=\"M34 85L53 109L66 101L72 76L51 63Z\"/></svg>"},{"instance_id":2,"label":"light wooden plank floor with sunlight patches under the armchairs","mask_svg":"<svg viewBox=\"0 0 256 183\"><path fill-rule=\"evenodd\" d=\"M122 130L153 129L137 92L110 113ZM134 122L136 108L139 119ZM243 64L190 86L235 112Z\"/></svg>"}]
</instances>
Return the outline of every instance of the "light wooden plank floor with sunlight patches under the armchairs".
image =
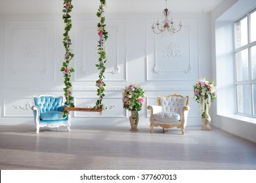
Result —
<instances>
[{"instance_id":1,"label":"light wooden plank floor with sunlight patches under the armchairs","mask_svg":"<svg viewBox=\"0 0 256 183\"><path fill-rule=\"evenodd\" d=\"M0 169L256 169L256 143L221 129L0 125Z\"/></svg>"}]
</instances>

